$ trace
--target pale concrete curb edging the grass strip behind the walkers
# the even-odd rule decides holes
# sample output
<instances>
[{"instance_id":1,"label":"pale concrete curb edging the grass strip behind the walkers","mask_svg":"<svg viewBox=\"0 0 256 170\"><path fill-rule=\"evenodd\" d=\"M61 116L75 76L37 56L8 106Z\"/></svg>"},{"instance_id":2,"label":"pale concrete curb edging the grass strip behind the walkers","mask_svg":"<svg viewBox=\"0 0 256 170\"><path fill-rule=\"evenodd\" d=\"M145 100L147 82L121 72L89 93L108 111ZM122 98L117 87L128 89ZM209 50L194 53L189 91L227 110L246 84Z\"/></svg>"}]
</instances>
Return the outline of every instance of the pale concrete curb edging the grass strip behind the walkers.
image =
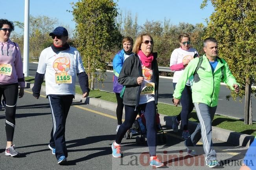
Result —
<instances>
[{"instance_id":1,"label":"pale concrete curb edging the grass strip behind the walkers","mask_svg":"<svg viewBox=\"0 0 256 170\"><path fill-rule=\"evenodd\" d=\"M34 84L30 84L26 82L27 88L32 88ZM41 91L45 91L45 86L42 86ZM96 99L92 97L83 98L82 95L77 94L75 96L75 101L84 102L85 104L90 104L93 106L98 106L107 110L111 110L112 112L116 112L117 104L114 102L104 101L101 99ZM124 111L123 111L124 112ZM162 126L172 127L172 117L160 114L160 123ZM188 126L190 130L195 130L198 123L196 122L188 122ZM254 140L254 136L247 135L243 133L233 132L230 130L225 130L217 127L212 127L212 137L227 143L234 144L236 146L249 146L250 143Z\"/></svg>"}]
</instances>

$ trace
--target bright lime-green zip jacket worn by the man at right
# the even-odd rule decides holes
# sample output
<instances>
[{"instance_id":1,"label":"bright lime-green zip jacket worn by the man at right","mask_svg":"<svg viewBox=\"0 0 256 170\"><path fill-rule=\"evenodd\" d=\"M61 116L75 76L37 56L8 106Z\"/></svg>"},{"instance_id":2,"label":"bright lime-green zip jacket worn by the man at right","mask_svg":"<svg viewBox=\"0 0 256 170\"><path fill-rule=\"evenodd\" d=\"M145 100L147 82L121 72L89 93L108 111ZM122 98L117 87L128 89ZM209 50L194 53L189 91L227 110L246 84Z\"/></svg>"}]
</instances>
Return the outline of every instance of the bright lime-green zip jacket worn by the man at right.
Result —
<instances>
[{"instance_id":1,"label":"bright lime-green zip jacket worn by the man at right","mask_svg":"<svg viewBox=\"0 0 256 170\"><path fill-rule=\"evenodd\" d=\"M217 59L218 64L212 73L212 68L208 58L203 55L203 62L200 68L197 70L197 73L194 75L194 82L192 86L192 100L193 103L204 103L210 107L217 106L220 83L221 81L225 82L232 90L234 84L238 84L236 82L235 77L232 75L228 64L225 60L221 58L222 62ZM176 99L180 99L181 93L185 87L186 81L190 76L195 73L197 68L197 64L199 62L199 57L191 60L186 66L183 75L179 79L176 84L175 91L173 97ZM222 75L222 67L223 67L223 75ZM239 84L238 84L239 85Z\"/></svg>"}]
</instances>

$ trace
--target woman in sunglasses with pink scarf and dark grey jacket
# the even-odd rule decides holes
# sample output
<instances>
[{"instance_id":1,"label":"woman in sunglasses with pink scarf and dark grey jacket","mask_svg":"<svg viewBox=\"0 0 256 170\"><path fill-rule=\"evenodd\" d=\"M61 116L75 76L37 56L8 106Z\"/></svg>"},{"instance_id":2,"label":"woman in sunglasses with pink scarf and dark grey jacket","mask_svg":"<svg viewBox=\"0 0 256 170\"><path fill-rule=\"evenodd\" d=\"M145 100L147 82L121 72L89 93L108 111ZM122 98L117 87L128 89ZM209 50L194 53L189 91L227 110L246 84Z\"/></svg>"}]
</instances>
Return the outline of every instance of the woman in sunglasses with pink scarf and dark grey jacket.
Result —
<instances>
[{"instance_id":1,"label":"woman in sunglasses with pink scarf and dark grey jacket","mask_svg":"<svg viewBox=\"0 0 256 170\"><path fill-rule=\"evenodd\" d=\"M157 53L153 53L153 38L149 34L142 34L136 38L133 55L123 63L118 82L125 86L123 104L125 107L125 121L118 129L116 140L112 144L113 157L122 157L121 141L133 122L138 111L144 113L147 128L147 145L151 166L160 167L164 164L156 156L156 105L158 95L159 74Z\"/></svg>"}]
</instances>

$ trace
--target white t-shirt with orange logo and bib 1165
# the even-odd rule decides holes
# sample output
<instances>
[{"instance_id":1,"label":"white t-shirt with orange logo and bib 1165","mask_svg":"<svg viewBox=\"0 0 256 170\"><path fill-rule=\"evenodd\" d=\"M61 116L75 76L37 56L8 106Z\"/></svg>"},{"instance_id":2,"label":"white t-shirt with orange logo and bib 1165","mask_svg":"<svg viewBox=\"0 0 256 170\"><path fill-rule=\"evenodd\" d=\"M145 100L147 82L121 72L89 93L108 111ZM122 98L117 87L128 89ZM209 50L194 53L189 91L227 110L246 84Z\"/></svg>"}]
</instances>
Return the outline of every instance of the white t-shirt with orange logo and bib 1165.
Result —
<instances>
[{"instance_id":1,"label":"white t-shirt with orange logo and bib 1165","mask_svg":"<svg viewBox=\"0 0 256 170\"><path fill-rule=\"evenodd\" d=\"M51 47L44 49L37 68L45 74L46 95L75 95L76 75L84 71L82 58L73 47L57 54Z\"/></svg>"}]
</instances>

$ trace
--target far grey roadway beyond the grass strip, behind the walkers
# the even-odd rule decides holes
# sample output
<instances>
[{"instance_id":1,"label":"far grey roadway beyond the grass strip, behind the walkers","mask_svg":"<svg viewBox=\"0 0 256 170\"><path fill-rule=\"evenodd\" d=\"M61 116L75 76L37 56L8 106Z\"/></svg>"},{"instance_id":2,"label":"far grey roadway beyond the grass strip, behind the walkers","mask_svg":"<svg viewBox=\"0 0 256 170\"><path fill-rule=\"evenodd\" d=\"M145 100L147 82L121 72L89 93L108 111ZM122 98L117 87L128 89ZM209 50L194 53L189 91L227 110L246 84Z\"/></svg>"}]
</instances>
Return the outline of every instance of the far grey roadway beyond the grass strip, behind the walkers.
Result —
<instances>
[{"instance_id":1,"label":"far grey roadway beyond the grass strip, behind the walkers","mask_svg":"<svg viewBox=\"0 0 256 170\"><path fill-rule=\"evenodd\" d=\"M29 63L29 75L35 76L36 70L37 70L37 64ZM113 91L113 81L112 81L113 73L106 72L106 76L104 78L105 78L104 82L98 82L98 80L95 80L95 88L112 92ZM159 84L160 86L159 86L158 101L172 104L171 98L174 91L172 80L160 78ZM78 80L77 80L77 85L79 85ZM243 119L244 118L244 99L238 98L237 101L233 101L233 99L230 98L230 100L227 101L226 100L227 95L230 95L230 90L226 86L221 86L221 90L219 93L219 104L217 106L216 113ZM241 100L241 102L239 100ZM256 121L256 104L255 103L256 103L256 99L252 97L252 118L254 121Z\"/></svg>"}]
</instances>

